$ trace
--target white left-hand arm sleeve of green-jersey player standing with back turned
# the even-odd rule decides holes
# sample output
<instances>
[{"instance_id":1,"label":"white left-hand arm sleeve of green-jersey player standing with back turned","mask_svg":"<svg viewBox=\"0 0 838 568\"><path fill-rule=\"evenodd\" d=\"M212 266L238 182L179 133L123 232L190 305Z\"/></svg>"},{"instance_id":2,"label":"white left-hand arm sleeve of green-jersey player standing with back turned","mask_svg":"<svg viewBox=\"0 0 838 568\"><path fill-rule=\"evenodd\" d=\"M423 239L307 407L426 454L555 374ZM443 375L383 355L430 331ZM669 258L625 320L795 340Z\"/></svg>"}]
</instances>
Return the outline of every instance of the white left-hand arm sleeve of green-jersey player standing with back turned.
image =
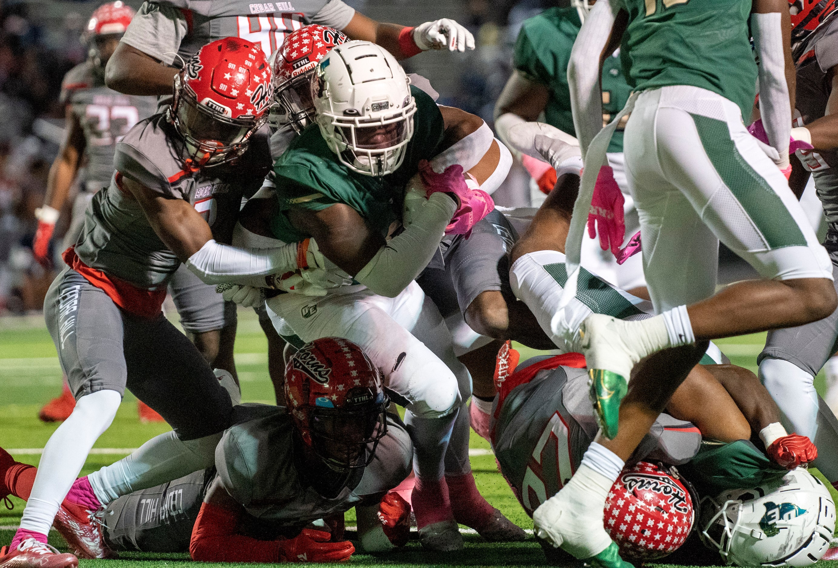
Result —
<instances>
[{"instance_id":1,"label":"white left-hand arm sleeve of green-jersey player standing with back turned","mask_svg":"<svg viewBox=\"0 0 838 568\"><path fill-rule=\"evenodd\" d=\"M612 3L614 5L612 5ZM618 5L614 0L597 2L582 24L573 43L567 65L567 84L571 91L573 126L582 148L587 153L597 132L603 129L603 92L599 84L599 55L603 53Z\"/></svg>"}]
</instances>

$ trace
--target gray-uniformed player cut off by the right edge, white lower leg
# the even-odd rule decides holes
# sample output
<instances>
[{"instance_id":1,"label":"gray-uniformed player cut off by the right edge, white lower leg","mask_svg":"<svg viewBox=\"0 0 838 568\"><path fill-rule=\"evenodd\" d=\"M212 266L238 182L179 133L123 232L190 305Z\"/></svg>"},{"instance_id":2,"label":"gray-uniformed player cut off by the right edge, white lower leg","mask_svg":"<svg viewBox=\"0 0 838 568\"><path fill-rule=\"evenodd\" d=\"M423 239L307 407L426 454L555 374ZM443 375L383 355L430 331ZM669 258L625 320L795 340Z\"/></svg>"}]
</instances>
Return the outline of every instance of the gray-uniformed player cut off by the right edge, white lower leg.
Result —
<instances>
[{"instance_id":1,"label":"gray-uniformed player cut off by the right edge, white lower leg","mask_svg":"<svg viewBox=\"0 0 838 568\"><path fill-rule=\"evenodd\" d=\"M824 246L833 275L838 277L838 90L833 79L838 71L838 11L832 3L821 8L820 3L804 3L792 15L795 106L803 126L793 128L791 136L814 146L796 151L796 156L815 177L815 192L827 223ZM807 173L799 180L801 193L808 177ZM838 486L838 446L824 438L820 416L831 412L815 392L814 383L815 375L835 353L836 340L838 311L811 324L769 331L758 356L759 376L783 411L786 427L808 436L819 448L815 467L833 486Z\"/></svg>"}]
</instances>

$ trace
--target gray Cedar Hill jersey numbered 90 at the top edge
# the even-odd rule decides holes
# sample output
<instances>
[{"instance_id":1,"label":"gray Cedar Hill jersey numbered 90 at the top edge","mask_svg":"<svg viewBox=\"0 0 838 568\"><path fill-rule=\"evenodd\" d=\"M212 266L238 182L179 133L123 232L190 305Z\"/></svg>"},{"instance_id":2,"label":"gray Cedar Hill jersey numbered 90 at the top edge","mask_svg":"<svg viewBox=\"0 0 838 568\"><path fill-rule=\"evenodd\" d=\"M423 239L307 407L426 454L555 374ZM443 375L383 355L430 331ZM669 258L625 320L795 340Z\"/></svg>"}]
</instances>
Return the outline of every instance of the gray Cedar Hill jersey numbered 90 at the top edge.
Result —
<instances>
[{"instance_id":1,"label":"gray Cedar Hill jersey numbered 90 at the top edge","mask_svg":"<svg viewBox=\"0 0 838 568\"><path fill-rule=\"evenodd\" d=\"M261 45L268 57L287 33L309 23L343 29L354 13L342 0L161 0L142 4L122 41L167 65L175 54L185 61L205 44L230 36Z\"/></svg>"}]
</instances>

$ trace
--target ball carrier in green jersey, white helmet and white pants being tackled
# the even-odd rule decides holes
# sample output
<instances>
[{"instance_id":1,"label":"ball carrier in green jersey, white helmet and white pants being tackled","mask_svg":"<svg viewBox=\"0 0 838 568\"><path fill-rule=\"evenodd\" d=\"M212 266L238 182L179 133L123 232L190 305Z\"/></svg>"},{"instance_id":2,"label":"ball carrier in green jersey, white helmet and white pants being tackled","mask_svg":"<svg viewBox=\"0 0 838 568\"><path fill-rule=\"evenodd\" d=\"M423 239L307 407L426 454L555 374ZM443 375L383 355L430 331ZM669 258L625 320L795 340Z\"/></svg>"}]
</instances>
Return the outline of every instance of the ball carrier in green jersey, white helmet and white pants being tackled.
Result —
<instances>
[{"instance_id":1,"label":"ball carrier in green jersey, white helmet and white pants being tackled","mask_svg":"<svg viewBox=\"0 0 838 568\"><path fill-rule=\"evenodd\" d=\"M458 142L484 128L483 120L437 107L411 88L401 66L375 44L336 46L321 59L315 81L318 124L304 129L275 162L275 197L251 200L241 224L254 244L265 237L282 243L312 237L304 257L308 268L285 280L290 294L267 300L269 313L303 340L354 340L383 370L387 386L407 407L419 479L413 505L423 544L458 548L462 540L442 478L443 456L470 394L468 371L454 356L437 309L413 279L437 251L443 232L468 233L489 212L491 199L478 186L499 183L509 162L499 161L491 140L478 151L465 144L463 151ZM416 175L422 160L430 161L422 169L424 182ZM466 182L463 169L476 179ZM408 182L418 191L405 199ZM234 291L240 293L249 294ZM468 445L459 452L458 463L468 463ZM510 534L512 525L480 497L470 471L460 477L466 483L453 494L464 513L461 522L487 538ZM522 533L515 530L514 536Z\"/></svg>"}]
</instances>

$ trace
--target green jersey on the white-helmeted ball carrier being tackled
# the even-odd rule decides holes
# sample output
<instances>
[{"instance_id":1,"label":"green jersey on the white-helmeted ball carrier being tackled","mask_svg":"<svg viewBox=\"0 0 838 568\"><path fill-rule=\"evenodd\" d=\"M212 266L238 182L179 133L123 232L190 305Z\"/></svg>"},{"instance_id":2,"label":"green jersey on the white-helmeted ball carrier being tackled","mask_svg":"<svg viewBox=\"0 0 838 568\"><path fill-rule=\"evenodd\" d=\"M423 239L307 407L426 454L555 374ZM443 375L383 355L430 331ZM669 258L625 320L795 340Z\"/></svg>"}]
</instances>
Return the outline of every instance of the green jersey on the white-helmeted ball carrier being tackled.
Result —
<instances>
[{"instance_id":1,"label":"green jersey on the white-helmeted ball carrier being tackled","mask_svg":"<svg viewBox=\"0 0 838 568\"><path fill-rule=\"evenodd\" d=\"M370 228L386 236L392 223L401 222L404 187L419 171L419 161L439 153L445 125L437 104L411 86L416 100L413 136L399 169L385 177L365 176L340 163L328 149L318 125L309 125L274 162L280 212L272 219L274 236L294 243L311 235L288 220L292 207L320 211L344 203L357 211Z\"/></svg>"}]
</instances>

